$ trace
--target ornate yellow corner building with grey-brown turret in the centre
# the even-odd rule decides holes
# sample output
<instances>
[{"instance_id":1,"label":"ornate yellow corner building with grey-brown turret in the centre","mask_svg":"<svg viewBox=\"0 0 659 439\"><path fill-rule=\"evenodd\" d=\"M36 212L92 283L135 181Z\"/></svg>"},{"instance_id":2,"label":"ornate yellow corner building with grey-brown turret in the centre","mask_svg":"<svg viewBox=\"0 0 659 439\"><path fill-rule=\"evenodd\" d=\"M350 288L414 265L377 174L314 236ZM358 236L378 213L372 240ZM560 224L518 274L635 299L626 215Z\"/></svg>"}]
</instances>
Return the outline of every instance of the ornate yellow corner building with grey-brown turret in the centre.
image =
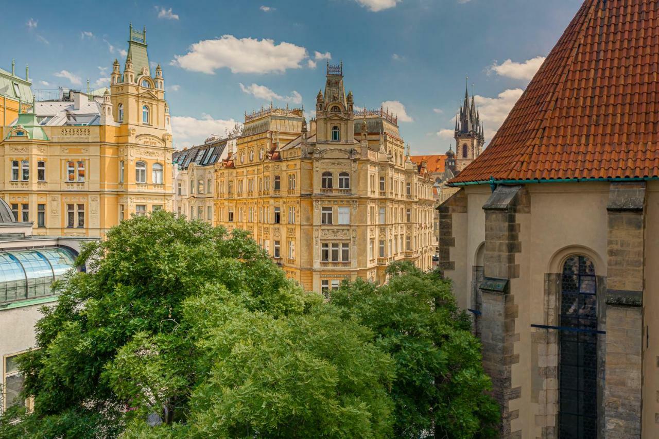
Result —
<instances>
[{"instance_id":1,"label":"ornate yellow corner building with grey-brown turret in the centre","mask_svg":"<svg viewBox=\"0 0 659 439\"><path fill-rule=\"evenodd\" d=\"M432 267L432 181L405 154L397 118L356 111L343 66L328 65L316 120L270 107L245 116L237 150L215 165L215 224L240 227L308 290L387 264Z\"/></svg>"}]
</instances>

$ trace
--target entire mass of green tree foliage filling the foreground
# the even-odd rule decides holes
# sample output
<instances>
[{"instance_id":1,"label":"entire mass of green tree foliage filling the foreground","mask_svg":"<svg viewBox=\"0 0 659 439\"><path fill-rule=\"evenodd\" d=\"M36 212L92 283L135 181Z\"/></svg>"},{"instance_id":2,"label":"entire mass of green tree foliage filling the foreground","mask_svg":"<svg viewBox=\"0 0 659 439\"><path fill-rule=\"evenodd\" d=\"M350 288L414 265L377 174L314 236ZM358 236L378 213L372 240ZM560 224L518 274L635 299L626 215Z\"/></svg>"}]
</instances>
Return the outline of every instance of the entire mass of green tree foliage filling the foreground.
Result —
<instances>
[{"instance_id":1,"label":"entire mass of green tree foliage filling the foreground","mask_svg":"<svg viewBox=\"0 0 659 439\"><path fill-rule=\"evenodd\" d=\"M166 212L76 264L18 360L34 411L5 411L0 438L467 438L496 422L436 275L392 266L327 303L246 232Z\"/></svg>"}]
</instances>

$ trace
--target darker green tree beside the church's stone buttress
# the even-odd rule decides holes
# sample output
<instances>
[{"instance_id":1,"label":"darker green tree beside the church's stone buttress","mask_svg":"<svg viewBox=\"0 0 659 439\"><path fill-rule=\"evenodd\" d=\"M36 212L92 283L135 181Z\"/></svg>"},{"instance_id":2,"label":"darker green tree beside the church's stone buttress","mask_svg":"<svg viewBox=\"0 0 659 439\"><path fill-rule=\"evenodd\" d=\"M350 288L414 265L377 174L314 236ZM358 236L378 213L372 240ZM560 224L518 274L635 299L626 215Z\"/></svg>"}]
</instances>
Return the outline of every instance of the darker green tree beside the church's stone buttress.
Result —
<instances>
[{"instance_id":1,"label":"darker green tree beside the church's stone buttress","mask_svg":"<svg viewBox=\"0 0 659 439\"><path fill-rule=\"evenodd\" d=\"M380 287L344 282L331 303L370 328L396 363L395 436L497 437L499 409L486 395L491 383L480 343L455 305L450 281L410 262L391 264L387 272L389 282Z\"/></svg>"}]
</instances>

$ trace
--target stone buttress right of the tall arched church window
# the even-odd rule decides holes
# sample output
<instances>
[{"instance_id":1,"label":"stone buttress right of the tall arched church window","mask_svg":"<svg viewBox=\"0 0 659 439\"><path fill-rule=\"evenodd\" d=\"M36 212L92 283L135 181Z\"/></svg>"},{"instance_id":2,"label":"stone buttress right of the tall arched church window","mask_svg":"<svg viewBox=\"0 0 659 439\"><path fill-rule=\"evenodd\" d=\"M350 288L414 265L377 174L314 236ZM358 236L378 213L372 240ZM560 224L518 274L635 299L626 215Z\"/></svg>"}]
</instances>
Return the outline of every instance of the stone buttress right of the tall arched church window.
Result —
<instances>
[{"instance_id":1,"label":"stone buttress right of the tall arched church window","mask_svg":"<svg viewBox=\"0 0 659 439\"><path fill-rule=\"evenodd\" d=\"M645 182L611 183L607 210L604 432L641 438Z\"/></svg>"}]
</instances>

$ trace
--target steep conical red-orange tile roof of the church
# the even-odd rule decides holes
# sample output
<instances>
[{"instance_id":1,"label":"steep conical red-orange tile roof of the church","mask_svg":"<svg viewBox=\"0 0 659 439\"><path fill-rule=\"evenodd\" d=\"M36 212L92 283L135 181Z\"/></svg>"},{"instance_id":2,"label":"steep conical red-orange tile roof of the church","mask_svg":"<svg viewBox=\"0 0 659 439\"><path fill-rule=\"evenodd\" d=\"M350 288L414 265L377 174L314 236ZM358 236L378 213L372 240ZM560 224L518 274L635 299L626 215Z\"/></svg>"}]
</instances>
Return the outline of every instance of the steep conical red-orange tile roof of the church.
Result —
<instances>
[{"instance_id":1,"label":"steep conical red-orange tile roof of the church","mask_svg":"<svg viewBox=\"0 0 659 439\"><path fill-rule=\"evenodd\" d=\"M586 0L450 183L659 177L659 0Z\"/></svg>"}]
</instances>

